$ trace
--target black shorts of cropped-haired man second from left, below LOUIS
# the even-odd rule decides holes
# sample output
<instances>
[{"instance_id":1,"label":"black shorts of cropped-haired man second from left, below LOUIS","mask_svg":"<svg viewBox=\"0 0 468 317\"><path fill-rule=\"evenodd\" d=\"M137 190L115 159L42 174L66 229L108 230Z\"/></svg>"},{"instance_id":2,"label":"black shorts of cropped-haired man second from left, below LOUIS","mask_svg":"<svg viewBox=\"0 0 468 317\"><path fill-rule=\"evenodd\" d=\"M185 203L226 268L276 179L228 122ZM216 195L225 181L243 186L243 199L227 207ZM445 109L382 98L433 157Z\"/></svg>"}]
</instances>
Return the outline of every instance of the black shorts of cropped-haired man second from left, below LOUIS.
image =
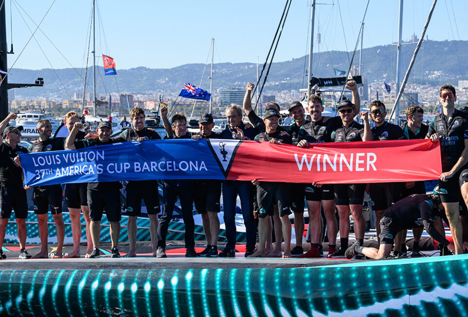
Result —
<instances>
[{"instance_id":1,"label":"black shorts of cropped-haired man second from left, below LOUIS","mask_svg":"<svg viewBox=\"0 0 468 317\"><path fill-rule=\"evenodd\" d=\"M50 213L52 215L61 214L63 199L62 186L50 185L44 187L41 187L40 189L38 187L34 187L34 213L36 215L47 214L50 206Z\"/></svg>"}]
</instances>

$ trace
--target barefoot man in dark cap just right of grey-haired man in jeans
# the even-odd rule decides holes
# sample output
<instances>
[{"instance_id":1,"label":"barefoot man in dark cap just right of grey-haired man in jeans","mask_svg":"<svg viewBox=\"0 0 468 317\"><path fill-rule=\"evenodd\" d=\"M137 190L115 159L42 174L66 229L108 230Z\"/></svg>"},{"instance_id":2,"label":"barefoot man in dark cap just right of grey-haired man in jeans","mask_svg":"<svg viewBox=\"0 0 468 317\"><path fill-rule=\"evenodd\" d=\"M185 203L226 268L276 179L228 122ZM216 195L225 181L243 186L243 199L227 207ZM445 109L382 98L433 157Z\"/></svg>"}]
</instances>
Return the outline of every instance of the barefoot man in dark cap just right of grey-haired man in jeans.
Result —
<instances>
[{"instance_id":1,"label":"barefoot man in dark cap just right of grey-haired man in jeans","mask_svg":"<svg viewBox=\"0 0 468 317\"><path fill-rule=\"evenodd\" d=\"M292 144L292 139L289 135L281 135L278 131L278 119L280 115L275 109L268 109L265 111L265 128L266 132L260 133L255 137L256 141L268 141L272 144ZM270 216L269 211L273 212L270 208L273 204L278 206L279 216L281 218L281 228L284 238L284 255L283 258L291 258L291 221L289 215L291 210L289 208L290 191L287 183L271 182L271 181L252 181L257 187L257 201L259 207L258 215L258 240L259 247L257 251L249 257L265 257L266 241L268 235ZM276 241L281 244L281 241Z\"/></svg>"}]
</instances>

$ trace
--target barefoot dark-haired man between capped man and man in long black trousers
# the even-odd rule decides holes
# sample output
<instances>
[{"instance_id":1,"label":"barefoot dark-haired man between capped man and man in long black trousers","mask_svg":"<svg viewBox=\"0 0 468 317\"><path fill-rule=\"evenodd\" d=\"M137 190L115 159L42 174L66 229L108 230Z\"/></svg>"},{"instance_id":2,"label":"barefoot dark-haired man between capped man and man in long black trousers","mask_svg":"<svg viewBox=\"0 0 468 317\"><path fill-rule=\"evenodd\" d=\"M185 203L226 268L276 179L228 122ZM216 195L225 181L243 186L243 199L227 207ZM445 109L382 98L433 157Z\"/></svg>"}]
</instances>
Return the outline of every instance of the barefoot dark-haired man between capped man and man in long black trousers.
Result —
<instances>
[{"instance_id":1,"label":"barefoot dark-haired man between capped man and man in long black trousers","mask_svg":"<svg viewBox=\"0 0 468 317\"><path fill-rule=\"evenodd\" d=\"M115 138L119 141L138 141L161 139L159 134L153 129L145 127L145 111L135 107L130 111L130 122L133 129L122 131L120 136ZM157 215L159 214L159 192L157 190L157 180L129 180L127 192L127 230L129 251L125 255L127 258L137 256L137 218L141 215L141 200L144 200L146 213L150 218L150 235L153 246L153 255L156 255L156 234L157 234Z\"/></svg>"}]
</instances>

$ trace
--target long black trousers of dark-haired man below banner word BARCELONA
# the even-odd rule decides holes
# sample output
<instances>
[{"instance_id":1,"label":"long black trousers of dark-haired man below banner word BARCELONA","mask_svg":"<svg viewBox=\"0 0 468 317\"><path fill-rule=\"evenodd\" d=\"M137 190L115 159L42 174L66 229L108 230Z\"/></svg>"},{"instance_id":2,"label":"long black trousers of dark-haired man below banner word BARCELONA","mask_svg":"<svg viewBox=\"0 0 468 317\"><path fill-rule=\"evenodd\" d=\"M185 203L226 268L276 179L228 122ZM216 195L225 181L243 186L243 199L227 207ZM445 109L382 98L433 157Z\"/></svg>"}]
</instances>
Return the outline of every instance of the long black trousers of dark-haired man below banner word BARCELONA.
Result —
<instances>
[{"instance_id":1,"label":"long black trousers of dark-haired man below banner word BARCELONA","mask_svg":"<svg viewBox=\"0 0 468 317\"><path fill-rule=\"evenodd\" d=\"M164 180L162 215L157 226L157 246L163 249L166 248L167 230L174 212L177 196L180 199L182 218L185 224L185 247L193 248L195 246L195 222L192 213L194 209L193 181L188 179Z\"/></svg>"}]
</instances>

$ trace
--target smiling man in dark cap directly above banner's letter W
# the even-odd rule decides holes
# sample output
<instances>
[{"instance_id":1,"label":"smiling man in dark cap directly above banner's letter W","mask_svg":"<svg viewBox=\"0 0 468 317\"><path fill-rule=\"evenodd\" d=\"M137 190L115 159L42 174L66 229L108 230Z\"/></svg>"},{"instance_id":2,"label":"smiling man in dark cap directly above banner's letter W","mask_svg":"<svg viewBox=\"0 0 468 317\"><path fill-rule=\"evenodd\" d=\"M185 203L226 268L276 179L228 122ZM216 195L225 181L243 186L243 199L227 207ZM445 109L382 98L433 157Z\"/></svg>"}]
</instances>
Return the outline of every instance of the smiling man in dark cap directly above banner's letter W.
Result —
<instances>
[{"instance_id":1,"label":"smiling man in dark cap directly above banner's letter W","mask_svg":"<svg viewBox=\"0 0 468 317\"><path fill-rule=\"evenodd\" d=\"M304 139L304 130L301 126L309 123L304 117L304 107L300 101L292 101L289 105L289 114L292 117L292 124L285 128L292 139L292 144L297 145L301 139ZM302 248L302 237L304 235L304 207L305 207L305 190L306 184L291 183L291 210L294 213L294 233L296 236L296 246L292 248L292 256L299 256L304 253Z\"/></svg>"}]
</instances>

